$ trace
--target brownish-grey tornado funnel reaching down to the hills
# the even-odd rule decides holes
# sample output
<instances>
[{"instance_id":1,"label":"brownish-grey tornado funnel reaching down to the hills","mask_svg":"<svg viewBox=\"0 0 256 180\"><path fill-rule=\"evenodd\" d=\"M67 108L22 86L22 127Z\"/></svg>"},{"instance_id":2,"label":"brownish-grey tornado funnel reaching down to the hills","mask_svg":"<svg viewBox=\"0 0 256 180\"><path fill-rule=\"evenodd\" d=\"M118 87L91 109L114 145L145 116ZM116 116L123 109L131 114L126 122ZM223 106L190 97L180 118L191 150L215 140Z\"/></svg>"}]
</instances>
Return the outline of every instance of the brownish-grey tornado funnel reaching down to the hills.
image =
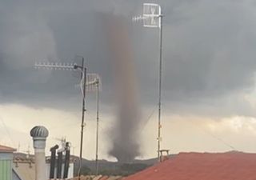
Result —
<instances>
[{"instance_id":1,"label":"brownish-grey tornado funnel reaching down to the hills","mask_svg":"<svg viewBox=\"0 0 256 180\"><path fill-rule=\"evenodd\" d=\"M114 15L105 22L118 103L117 119L110 130L109 154L118 162L133 162L140 155L140 110L129 23Z\"/></svg>"}]
</instances>

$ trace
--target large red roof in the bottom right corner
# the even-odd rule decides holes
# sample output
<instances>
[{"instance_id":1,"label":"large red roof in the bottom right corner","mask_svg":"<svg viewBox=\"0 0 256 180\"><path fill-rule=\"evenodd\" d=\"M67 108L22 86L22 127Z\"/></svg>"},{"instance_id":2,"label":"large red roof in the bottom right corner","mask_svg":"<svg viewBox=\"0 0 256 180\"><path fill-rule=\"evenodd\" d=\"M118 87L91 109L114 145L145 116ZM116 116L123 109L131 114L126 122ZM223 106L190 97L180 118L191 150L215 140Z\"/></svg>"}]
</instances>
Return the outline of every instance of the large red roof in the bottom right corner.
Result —
<instances>
[{"instance_id":1,"label":"large red roof in the bottom right corner","mask_svg":"<svg viewBox=\"0 0 256 180\"><path fill-rule=\"evenodd\" d=\"M255 180L256 154L181 153L125 180Z\"/></svg>"}]
</instances>

